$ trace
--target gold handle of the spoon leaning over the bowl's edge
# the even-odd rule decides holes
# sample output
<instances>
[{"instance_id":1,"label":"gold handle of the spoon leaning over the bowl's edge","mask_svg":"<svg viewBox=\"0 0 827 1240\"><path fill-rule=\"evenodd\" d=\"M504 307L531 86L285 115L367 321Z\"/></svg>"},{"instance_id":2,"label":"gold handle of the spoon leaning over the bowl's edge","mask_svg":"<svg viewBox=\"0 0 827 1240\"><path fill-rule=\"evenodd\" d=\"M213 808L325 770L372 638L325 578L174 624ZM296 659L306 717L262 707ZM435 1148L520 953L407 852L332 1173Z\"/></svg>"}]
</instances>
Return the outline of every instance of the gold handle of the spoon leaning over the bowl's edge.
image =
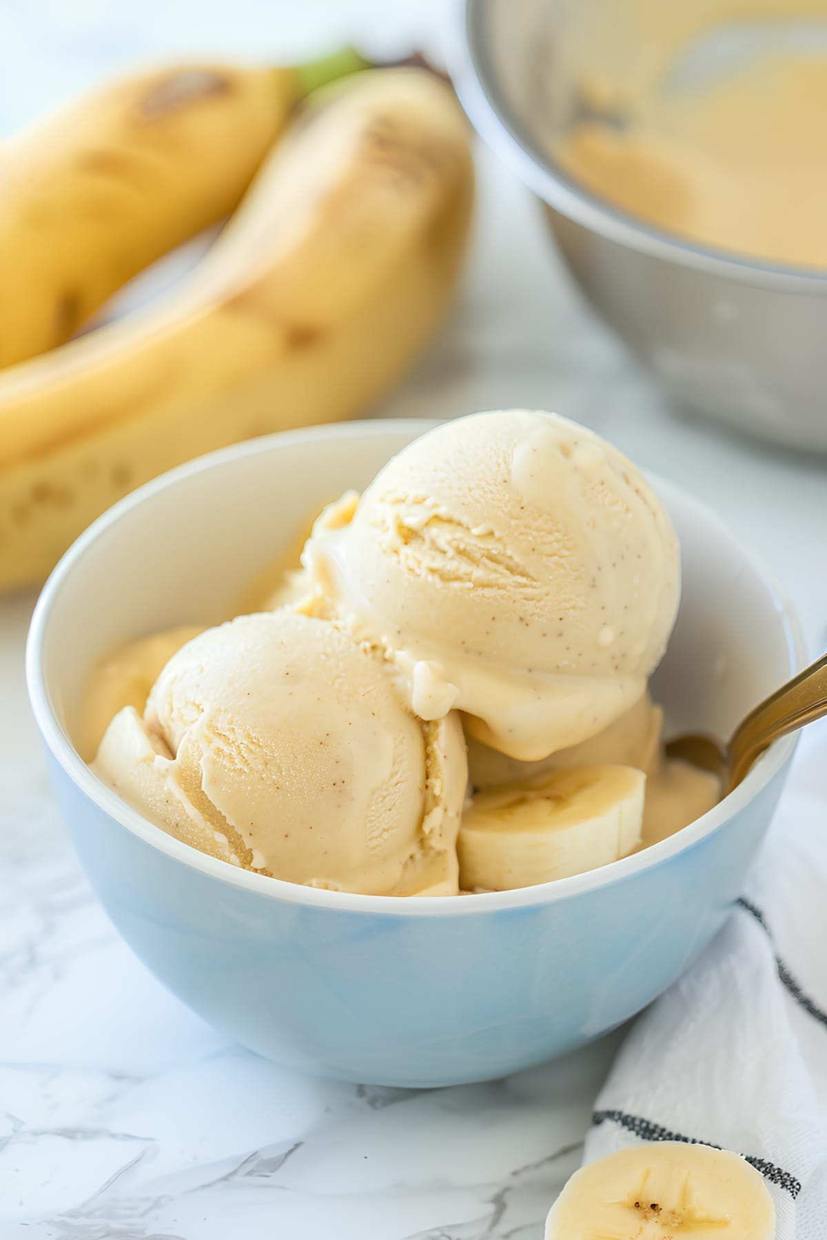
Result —
<instances>
[{"instance_id":1,"label":"gold handle of the spoon leaning over the bowl's edge","mask_svg":"<svg viewBox=\"0 0 827 1240\"><path fill-rule=\"evenodd\" d=\"M729 744L729 787L736 787L774 740L827 715L827 655L755 707Z\"/></svg>"}]
</instances>

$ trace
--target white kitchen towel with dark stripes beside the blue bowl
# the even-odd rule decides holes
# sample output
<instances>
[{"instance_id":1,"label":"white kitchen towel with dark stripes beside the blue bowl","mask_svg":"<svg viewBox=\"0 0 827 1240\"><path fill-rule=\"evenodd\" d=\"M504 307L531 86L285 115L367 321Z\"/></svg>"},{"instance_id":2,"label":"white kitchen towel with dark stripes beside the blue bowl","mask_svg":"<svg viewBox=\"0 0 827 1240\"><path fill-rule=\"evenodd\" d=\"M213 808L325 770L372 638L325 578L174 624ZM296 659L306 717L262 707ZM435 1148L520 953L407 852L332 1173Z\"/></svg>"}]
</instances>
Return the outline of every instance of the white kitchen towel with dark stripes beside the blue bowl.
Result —
<instances>
[{"instance_id":1,"label":"white kitchen towel with dark stripes beside the blue bowl","mask_svg":"<svg viewBox=\"0 0 827 1240\"><path fill-rule=\"evenodd\" d=\"M586 1161L639 1140L735 1149L765 1177L777 1240L827 1240L823 724L802 738L729 921L624 1042Z\"/></svg>"}]
</instances>

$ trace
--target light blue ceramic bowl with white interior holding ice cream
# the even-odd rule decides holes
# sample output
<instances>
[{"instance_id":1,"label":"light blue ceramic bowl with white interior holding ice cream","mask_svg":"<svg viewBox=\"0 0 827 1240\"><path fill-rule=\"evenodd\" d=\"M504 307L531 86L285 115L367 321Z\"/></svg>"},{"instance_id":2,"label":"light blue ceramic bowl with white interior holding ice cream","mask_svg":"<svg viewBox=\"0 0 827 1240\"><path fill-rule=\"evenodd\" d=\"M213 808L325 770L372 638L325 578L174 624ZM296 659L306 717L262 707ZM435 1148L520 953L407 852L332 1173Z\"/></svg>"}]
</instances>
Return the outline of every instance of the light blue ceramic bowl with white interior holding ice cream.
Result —
<instances>
[{"instance_id":1,"label":"light blue ceramic bowl with white interior holding ice cream","mask_svg":"<svg viewBox=\"0 0 827 1240\"><path fill-rule=\"evenodd\" d=\"M422 422L321 427L206 456L141 487L56 568L27 676L77 852L133 950L222 1033L280 1064L433 1086L527 1068L626 1021L739 895L794 744L647 852L518 892L398 899L233 868L146 822L76 744L89 670L123 641L217 621L309 515L363 486ZM717 520L655 482L683 548L683 603L655 681L672 729L725 733L798 666L797 627Z\"/></svg>"}]
</instances>

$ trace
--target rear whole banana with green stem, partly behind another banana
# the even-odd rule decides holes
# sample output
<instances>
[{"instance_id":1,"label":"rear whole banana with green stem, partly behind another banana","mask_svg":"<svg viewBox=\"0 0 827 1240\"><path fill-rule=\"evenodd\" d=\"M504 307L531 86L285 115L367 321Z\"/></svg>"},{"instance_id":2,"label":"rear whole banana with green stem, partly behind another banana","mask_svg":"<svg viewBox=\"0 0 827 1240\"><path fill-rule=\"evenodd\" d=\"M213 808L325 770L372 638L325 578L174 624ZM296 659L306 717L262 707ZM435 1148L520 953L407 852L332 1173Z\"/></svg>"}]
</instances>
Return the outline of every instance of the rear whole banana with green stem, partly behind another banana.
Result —
<instances>
[{"instance_id":1,"label":"rear whole banana with green stem, partly behind another banana","mask_svg":"<svg viewBox=\"0 0 827 1240\"><path fill-rule=\"evenodd\" d=\"M63 343L144 267L238 205L309 88L363 62L179 64L108 83L6 144L0 366Z\"/></svg>"}]
</instances>

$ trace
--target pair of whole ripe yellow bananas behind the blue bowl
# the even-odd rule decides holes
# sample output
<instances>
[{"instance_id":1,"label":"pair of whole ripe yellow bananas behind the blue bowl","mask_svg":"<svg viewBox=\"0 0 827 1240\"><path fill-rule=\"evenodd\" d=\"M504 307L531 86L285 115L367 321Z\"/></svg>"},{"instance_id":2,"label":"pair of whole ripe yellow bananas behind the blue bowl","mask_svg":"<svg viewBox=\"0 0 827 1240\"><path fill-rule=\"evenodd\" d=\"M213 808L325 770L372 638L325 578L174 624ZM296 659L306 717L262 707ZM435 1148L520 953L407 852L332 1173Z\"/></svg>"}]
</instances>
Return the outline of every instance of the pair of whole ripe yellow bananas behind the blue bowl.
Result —
<instances>
[{"instance_id":1,"label":"pair of whole ripe yellow bananas behind the blue bowl","mask_svg":"<svg viewBox=\"0 0 827 1240\"><path fill-rule=\"evenodd\" d=\"M417 356L469 232L467 129L433 73L355 68L149 73L6 146L0 588L42 579L139 484L358 414ZM228 215L185 281L69 339Z\"/></svg>"}]
</instances>

